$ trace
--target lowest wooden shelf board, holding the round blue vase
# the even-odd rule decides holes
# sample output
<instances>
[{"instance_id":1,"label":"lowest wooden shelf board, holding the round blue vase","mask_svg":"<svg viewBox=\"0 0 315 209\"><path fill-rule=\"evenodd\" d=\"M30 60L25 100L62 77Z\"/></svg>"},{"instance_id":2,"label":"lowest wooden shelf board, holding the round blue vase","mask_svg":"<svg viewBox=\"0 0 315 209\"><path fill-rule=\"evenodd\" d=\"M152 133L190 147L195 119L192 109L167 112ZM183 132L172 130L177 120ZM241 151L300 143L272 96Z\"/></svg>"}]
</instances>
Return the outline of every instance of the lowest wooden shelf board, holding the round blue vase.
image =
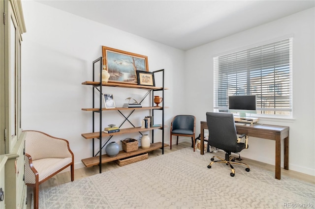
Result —
<instances>
[{"instance_id":1,"label":"lowest wooden shelf board, holding the round blue vase","mask_svg":"<svg viewBox=\"0 0 315 209\"><path fill-rule=\"evenodd\" d=\"M164 143L164 147L167 147L167 146L168 146L168 144ZM150 148L148 148L148 149L142 149L141 147L139 147L139 149L137 151L133 151L133 152L129 152L129 153L126 153L125 151L122 150L115 157L109 157L108 155L105 154L105 155L102 155L102 163L111 162L111 161L114 161L117 159L122 159L125 157L135 156L138 154L150 152L150 151L157 150L160 148L162 148L162 142L156 142L156 143L151 144ZM92 167L94 165L98 165L99 164L99 156L82 159L82 162L86 167Z\"/></svg>"}]
</instances>

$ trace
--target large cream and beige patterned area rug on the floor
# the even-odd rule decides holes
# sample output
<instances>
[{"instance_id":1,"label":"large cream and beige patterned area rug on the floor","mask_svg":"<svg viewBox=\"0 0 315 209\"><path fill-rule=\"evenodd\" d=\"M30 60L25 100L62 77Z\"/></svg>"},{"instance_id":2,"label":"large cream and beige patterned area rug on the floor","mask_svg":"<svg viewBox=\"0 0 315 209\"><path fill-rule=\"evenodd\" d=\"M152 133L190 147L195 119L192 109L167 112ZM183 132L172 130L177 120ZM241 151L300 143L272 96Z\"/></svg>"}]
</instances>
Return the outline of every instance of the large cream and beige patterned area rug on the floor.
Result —
<instances>
[{"instance_id":1,"label":"large cream and beige patterned area rug on the floor","mask_svg":"<svg viewBox=\"0 0 315 209\"><path fill-rule=\"evenodd\" d=\"M224 163L191 148L152 157L39 191L40 209L314 208L315 185L274 172Z\"/></svg>"}]
</instances>

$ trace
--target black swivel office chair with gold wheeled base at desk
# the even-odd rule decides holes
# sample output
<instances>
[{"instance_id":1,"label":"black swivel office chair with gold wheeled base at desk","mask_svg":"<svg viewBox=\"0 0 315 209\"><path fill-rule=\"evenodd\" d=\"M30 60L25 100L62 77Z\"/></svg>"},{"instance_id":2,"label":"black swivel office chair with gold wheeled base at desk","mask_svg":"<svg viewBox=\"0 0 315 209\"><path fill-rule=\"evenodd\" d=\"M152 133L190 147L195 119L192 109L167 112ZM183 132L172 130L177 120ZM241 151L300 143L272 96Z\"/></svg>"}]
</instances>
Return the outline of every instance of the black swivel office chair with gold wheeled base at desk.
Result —
<instances>
[{"instance_id":1,"label":"black swivel office chair with gold wheeled base at desk","mask_svg":"<svg viewBox=\"0 0 315 209\"><path fill-rule=\"evenodd\" d=\"M225 159L219 156L214 156L211 158L211 162L208 165L208 168L211 168L211 165L215 162L226 163L231 168L231 177L235 175L235 170L231 164L241 164L245 165L247 172L250 171L250 167L243 162L235 162L235 157L230 156L231 153L239 153L243 149L248 148L247 140L248 136L242 134L239 137L236 134L236 128L234 123L233 114L231 113L219 113L219 112L207 112L207 125L209 130L209 139L208 143L221 149L225 152ZM245 137L245 142L241 143L242 138ZM214 158L217 157L220 160L214 161Z\"/></svg>"}]
</instances>

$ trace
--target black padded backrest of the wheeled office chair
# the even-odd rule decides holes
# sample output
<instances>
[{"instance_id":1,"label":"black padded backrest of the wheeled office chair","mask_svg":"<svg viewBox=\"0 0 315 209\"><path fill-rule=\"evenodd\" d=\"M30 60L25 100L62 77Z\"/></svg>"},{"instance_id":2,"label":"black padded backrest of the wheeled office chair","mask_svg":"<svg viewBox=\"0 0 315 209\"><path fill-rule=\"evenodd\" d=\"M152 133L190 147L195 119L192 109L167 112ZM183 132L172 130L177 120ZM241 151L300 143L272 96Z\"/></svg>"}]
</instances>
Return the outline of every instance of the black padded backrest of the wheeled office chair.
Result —
<instances>
[{"instance_id":1,"label":"black padded backrest of the wheeled office chair","mask_svg":"<svg viewBox=\"0 0 315 209\"><path fill-rule=\"evenodd\" d=\"M229 152L240 152L232 113L207 112L208 143Z\"/></svg>"}]
</instances>

